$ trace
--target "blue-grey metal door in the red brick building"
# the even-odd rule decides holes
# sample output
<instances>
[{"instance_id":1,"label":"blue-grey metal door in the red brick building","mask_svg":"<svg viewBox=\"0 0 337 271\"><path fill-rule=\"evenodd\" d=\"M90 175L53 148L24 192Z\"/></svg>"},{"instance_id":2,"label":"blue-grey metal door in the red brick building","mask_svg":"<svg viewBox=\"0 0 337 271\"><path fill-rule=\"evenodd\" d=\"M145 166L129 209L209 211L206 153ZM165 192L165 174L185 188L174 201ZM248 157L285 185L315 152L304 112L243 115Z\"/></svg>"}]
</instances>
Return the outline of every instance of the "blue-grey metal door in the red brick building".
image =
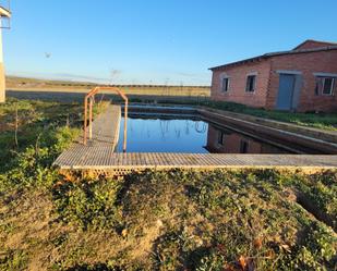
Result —
<instances>
[{"instance_id":1,"label":"blue-grey metal door in the red brick building","mask_svg":"<svg viewBox=\"0 0 337 271\"><path fill-rule=\"evenodd\" d=\"M276 109L291 110L296 75L280 74Z\"/></svg>"}]
</instances>

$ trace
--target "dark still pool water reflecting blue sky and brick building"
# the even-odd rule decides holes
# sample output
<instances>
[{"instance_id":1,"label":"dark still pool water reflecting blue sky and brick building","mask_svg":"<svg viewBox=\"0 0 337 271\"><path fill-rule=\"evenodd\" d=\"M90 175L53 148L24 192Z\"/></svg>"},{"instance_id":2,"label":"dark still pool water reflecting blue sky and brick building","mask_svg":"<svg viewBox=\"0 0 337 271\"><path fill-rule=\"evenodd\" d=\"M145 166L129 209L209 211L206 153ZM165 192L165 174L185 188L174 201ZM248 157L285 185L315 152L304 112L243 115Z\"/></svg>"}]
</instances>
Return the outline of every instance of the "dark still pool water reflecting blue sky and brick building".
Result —
<instances>
[{"instance_id":1,"label":"dark still pool water reflecting blue sky and brick building","mask_svg":"<svg viewBox=\"0 0 337 271\"><path fill-rule=\"evenodd\" d=\"M122 151L123 120L117 151ZM198 119L128 119L128 152L285 153L286 150Z\"/></svg>"}]
</instances>

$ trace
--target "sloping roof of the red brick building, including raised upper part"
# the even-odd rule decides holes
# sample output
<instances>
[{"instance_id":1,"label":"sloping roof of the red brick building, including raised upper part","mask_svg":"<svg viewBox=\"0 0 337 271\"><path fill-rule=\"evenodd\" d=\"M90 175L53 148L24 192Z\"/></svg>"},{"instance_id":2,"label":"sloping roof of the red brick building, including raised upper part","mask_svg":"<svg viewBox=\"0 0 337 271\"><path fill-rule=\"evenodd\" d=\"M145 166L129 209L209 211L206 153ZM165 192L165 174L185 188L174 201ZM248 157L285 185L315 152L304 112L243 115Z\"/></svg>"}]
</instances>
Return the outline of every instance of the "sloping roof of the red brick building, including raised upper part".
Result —
<instances>
[{"instance_id":1,"label":"sloping roof of the red brick building, including raised upper part","mask_svg":"<svg viewBox=\"0 0 337 271\"><path fill-rule=\"evenodd\" d=\"M337 50L337 44L308 39L289 51L268 52L268 53L261 54L254 58L244 59L244 60L227 63L224 65L209 67L209 70L210 71L222 70L228 66L258 62L258 61L266 60L273 57L285 56L285 54L310 53L310 52L329 51L329 50Z\"/></svg>"}]
</instances>

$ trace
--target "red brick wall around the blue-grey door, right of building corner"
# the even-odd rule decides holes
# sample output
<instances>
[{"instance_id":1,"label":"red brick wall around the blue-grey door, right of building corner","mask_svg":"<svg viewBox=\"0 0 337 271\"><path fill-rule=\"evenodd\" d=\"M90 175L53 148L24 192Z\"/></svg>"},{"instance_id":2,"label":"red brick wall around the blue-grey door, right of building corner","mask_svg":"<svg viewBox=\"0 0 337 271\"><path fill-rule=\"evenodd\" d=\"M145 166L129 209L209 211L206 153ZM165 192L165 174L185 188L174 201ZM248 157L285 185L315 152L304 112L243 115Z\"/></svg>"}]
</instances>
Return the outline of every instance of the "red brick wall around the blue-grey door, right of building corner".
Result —
<instances>
[{"instance_id":1,"label":"red brick wall around the blue-grey door, right of building corner","mask_svg":"<svg viewBox=\"0 0 337 271\"><path fill-rule=\"evenodd\" d=\"M285 54L272 59L270 83L266 108L275 109L279 86L278 70L302 72L302 87L297 111L336 111L336 96L315 96L315 76L313 73L337 74L337 50L311 53ZM334 93L337 94L337 81Z\"/></svg>"}]
</instances>

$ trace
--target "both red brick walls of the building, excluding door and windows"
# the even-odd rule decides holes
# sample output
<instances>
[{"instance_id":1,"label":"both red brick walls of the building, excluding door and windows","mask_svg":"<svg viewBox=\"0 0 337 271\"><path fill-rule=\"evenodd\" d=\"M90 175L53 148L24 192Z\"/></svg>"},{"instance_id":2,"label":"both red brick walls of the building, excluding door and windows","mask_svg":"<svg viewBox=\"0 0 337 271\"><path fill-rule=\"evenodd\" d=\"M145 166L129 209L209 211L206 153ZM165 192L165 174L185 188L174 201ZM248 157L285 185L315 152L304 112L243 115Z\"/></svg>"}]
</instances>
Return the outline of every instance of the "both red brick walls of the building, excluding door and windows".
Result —
<instances>
[{"instance_id":1,"label":"both red brick walls of the building, excluding door and windows","mask_svg":"<svg viewBox=\"0 0 337 271\"><path fill-rule=\"evenodd\" d=\"M337 79L334 85L336 95L315 96L316 82L313 75L313 73L337 74L337 50L284 54L261 62L214 71L210 98L213 100L234 101L251 107L275 109L279 87L277 71L279 70L302 72L302 87L297 111L337 111ZM252 72L257 72L256 90L245 93L246 75ZM230 77L228 93L221 91L222 73Z\"/></svg>"}]
</instances>

